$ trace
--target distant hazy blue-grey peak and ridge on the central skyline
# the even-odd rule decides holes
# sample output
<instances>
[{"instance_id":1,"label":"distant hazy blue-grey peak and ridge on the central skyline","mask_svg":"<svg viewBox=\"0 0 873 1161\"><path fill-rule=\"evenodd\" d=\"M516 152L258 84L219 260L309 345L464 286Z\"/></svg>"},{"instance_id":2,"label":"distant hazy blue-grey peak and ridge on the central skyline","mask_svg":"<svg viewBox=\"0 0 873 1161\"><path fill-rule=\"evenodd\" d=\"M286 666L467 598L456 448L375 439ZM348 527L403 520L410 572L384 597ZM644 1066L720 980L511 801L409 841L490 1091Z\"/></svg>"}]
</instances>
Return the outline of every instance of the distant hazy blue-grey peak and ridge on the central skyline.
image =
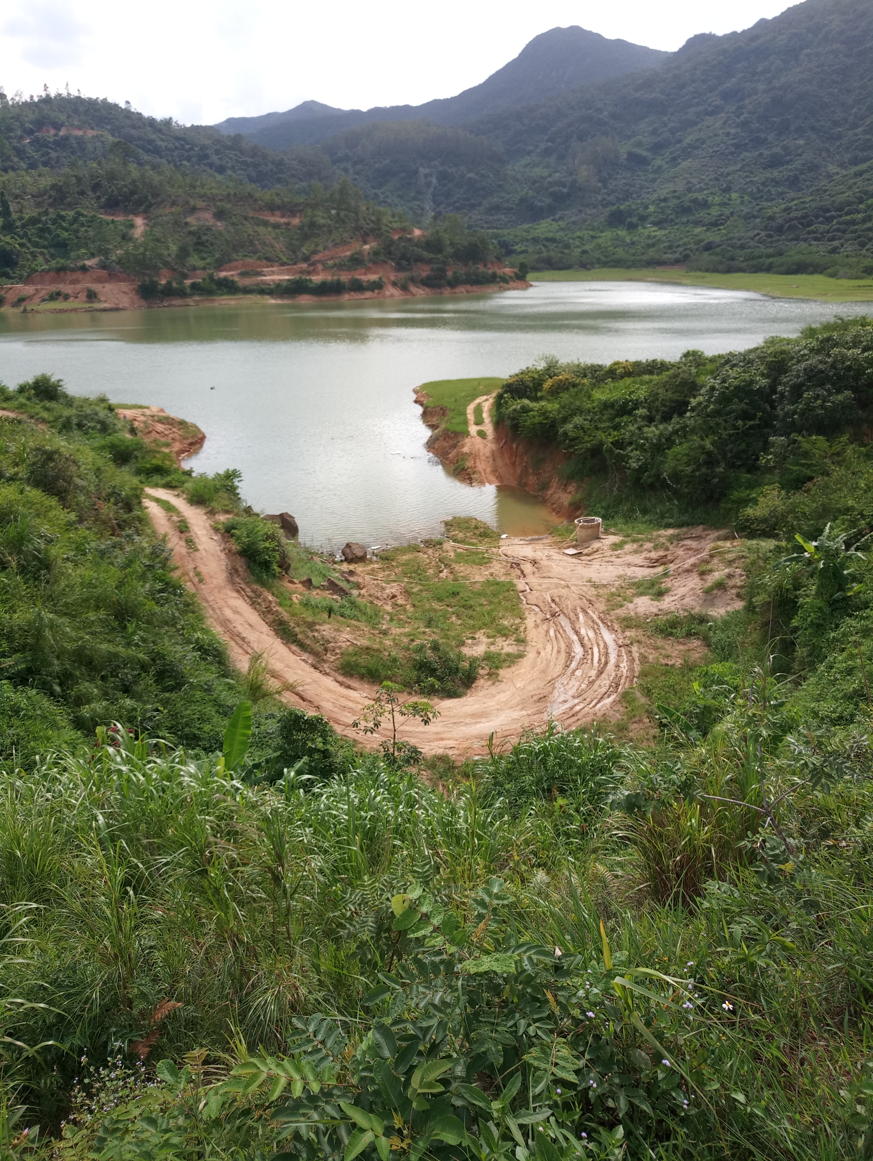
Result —
<instances>
[{"instance_id":1,"label":"distant hazy blue-grey peak and ridge on the central skyline","mask_svg":"<svg viewBox=\"0 0 873 1161\"><path fill-rule=\"evenodd\" d=\"M374 109L334 109L305 101L287 113L261 117L230 117L216 125L222 132L241 132L269 149L313 144L338 130L380 121L427 121L457 125L476 117L542 101L579 85L651 68L670 57L628 41L609 41L585 28L553 28L535 36L521 52L481 85L457 96L425 104L396 104Z\"/></svg>"}]
</instances>

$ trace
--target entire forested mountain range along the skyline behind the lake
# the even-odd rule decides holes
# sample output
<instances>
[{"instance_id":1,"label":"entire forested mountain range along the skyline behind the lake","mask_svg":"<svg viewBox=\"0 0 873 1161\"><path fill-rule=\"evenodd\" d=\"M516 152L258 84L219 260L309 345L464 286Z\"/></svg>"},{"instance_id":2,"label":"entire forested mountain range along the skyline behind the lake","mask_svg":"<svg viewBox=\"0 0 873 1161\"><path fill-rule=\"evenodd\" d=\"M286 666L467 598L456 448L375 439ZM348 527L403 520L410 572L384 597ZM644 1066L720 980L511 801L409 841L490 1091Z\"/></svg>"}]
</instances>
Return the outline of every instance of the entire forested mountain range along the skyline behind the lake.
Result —
<instances>
[{"instance_id":1,"label":"entire forested mountain range along the skyline behind the lake","mask_svg":"<svg viewBox=\"0 0 873 1161\"><path fill-rule=\"evenodd\" d=\"M0 95L0 171L115 157L262 189L345 175L420 224L460 212L532 266L873 271L870 0L805 0L743 33L692 37L659 64L648 52L555 29L448 101L304 102L222 127L248 125L255 142L104 100ZM600 79L567 87L583 74ZM499 108L549 86L561 92ZM289 132L324 139L257 144Z\"/></svg>"}]
</instances>

